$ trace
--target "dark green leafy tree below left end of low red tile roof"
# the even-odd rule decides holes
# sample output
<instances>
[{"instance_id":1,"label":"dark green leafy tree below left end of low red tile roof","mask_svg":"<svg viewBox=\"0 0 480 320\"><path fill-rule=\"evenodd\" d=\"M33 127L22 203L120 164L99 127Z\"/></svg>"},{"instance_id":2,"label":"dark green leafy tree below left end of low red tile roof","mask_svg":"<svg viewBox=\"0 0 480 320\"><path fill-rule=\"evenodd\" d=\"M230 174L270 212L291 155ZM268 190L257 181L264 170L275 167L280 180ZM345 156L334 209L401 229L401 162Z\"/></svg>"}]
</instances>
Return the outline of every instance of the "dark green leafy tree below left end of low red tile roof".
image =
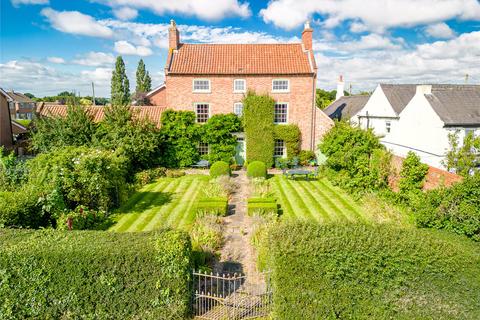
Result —
<instances>
[{"instance_id":1,"label":"dark green leafy tree below left end of low red tile roof","mask_svg":"<svg viewBox=\"0 0 480 320\"><path fill-rule=\"evenodd\" d=\"M97 125L87 109L68 106L66 116L38 117L34 120L31 142L38 152L66 146L89 146Z\"/></svg>"}]
</instances>

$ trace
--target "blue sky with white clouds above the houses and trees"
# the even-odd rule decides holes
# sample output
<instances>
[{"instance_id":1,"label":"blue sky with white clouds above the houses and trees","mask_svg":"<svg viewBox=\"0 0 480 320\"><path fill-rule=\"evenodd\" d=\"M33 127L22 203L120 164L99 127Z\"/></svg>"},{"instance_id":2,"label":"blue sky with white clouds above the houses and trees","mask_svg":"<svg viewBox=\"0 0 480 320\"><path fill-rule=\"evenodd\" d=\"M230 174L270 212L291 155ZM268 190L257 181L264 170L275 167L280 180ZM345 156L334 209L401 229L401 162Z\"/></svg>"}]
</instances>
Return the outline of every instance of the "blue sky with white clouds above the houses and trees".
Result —
<instances>
[{"instance_id":1,"label":"blue sky with white clouds above the houses and trees","mask_svg":"<svg viewBox=\"0 0 480 320\"><path fill-rule=\"evenodd\" d=\"M388 83L480 83L478 0L1 0L0 86L110 95L115 56L132 88L143 58L163 81L167 29L183 42L300 41L314 28L318 86L343 74L353 91Z\"/></svg>"}]
</instances>

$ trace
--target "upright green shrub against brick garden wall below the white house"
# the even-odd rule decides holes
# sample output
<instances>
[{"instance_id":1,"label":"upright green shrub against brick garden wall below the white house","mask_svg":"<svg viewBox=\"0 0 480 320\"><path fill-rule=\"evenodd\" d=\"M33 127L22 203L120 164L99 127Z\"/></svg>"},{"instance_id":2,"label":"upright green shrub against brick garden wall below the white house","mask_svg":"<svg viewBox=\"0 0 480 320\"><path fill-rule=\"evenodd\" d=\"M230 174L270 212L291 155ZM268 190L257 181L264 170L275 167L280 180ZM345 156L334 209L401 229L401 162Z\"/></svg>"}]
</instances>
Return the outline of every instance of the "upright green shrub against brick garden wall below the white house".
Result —
<instances>
[{"instance_id":1,"label":"upright green shrub against brick garden wall below the white house","mask_svg":"<svg viewBox=\"0 0 480 320\"><path fill-rule=\"evenodd\" d=\"M422 190L423 180L428 172L428 165L420 162L420 157L409 151L400 170L398 187L401 194Z\"/></svg>"}]
</instances>

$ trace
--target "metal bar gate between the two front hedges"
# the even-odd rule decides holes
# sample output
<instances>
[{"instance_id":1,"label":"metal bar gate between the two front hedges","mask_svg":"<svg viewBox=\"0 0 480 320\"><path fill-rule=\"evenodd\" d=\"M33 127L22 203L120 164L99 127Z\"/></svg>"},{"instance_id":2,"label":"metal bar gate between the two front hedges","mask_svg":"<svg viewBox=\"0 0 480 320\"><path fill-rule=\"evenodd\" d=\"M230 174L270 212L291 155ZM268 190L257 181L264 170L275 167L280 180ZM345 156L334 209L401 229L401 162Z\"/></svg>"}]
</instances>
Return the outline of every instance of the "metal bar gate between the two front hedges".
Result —
<instances>
[{"instance_id":1,"label":"metal bar gate between the two front hedges","mask_svg":"<svg viewBox=\"0 0 480 320\"><path fill-rule=\"evenodd\" d=\"M265 284L252 286L241 274L193 272L193 313L196 319L254 319L271 312L270 273Z\"/></svg>"}]
</instances>

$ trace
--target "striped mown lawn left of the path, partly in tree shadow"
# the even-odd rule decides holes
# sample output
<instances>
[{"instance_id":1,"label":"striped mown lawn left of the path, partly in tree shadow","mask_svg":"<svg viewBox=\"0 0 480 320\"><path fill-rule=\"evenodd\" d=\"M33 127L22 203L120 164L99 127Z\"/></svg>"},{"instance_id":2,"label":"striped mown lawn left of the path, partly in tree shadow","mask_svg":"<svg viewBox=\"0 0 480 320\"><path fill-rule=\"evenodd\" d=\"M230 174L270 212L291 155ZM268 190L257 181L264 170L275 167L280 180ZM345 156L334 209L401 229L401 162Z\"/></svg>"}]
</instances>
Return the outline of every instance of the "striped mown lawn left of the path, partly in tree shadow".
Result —
<instances>
[{"instance_id":1,"label":"striped mown lawn left of the path, partly in tree shadow","mask_svg":"<svg viewBox=\"0 0 480 320\"><path fill-rule=\"evenodd\" d=\"M160 178L137 191L115 215L109 229L117 232L149 231L162 227L188 228L195 219L194 205L209 177L186 175Z\"/></svg>"}]
</instances>

